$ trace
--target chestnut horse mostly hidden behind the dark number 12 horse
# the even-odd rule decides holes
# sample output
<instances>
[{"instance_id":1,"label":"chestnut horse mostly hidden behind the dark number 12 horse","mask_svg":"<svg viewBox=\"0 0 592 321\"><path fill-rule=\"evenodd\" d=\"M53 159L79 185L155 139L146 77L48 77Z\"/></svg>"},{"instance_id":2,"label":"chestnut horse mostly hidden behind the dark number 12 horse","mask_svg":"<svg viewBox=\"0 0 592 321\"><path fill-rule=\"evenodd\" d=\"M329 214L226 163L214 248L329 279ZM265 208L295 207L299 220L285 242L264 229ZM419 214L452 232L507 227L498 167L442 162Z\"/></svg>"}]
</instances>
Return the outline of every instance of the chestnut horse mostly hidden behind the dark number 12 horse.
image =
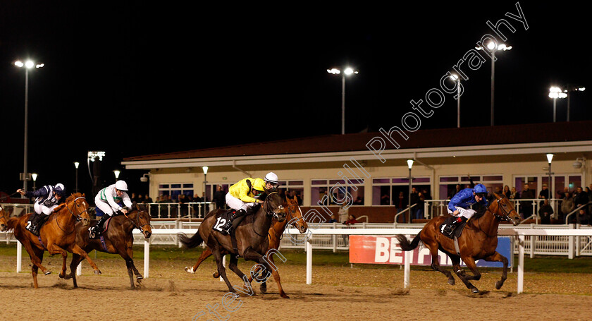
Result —
<instances>
[{"instance_id":1,"label":"chestnut horse mostly hidden behind the dark number 12 horse","mask_svg":"<svg viewBox=\"0 0 592 321\"><path fill-rule=\"evenodd\" d=\"M306 232L308 229L307 222L304 221L304 218L302 217L302 210L300 210L300 206L298 205L298 200L297 200L296 196L294 197L293 200L291 198L287 198L285 200L285 202L283 203L283 207L286 210L288 210L285 220L283 222L278 222L278 220L273 219L273 222L271 223L271 227L269 228L269 232L267 234L267 240L268 240L269 246L268 246L267 250L265 250L265 253L267 253L267 251L271 248L278 250L278 248L280 247L280 240L283 236L283 231L285 229L285 226L288 226L288 224L294 226L295 229L298 229L298 231L300 231L300 234ZM226 255L226 254L228 254L228 251L223 250L223 251L221 251L221 254ZM185 272L195 273L195 271L197 270L197 267L199 267L199 265L201 265L202 262L204 262L204 260L206 260L206 258L209 258L210 256L211 256L211 250L209 248L204 249L204 251L202 252L202 255L200 255L199 258L197 259L197 262L195 262L195 265L193 265L192 267L185 267ZM276 262L273 261L273 255L271 255L271 257L269 259L271 260L273 265L276 264ZM257 273L259 272L259 269L260 269L259 266L257 266L255 268L255 270L254 270L255 275L257 275ZM271 274L273 275L273 279L276 280L276 284L278 284L278 290L280 291L280 296L282 298L290 298L290 296L288 296L283 291L282 284L280 283L280 274L278 273L278 269L272 269ZM219 277L217 272L214 273L214 277L215 278ZM249 275L249 283L252 281L253 281L253 277L252 277L252 275ZM261 293L267 292L266 281L261 282L261 285L259 286L259 290L261 291Z\"/></svg>"}]
</instances>

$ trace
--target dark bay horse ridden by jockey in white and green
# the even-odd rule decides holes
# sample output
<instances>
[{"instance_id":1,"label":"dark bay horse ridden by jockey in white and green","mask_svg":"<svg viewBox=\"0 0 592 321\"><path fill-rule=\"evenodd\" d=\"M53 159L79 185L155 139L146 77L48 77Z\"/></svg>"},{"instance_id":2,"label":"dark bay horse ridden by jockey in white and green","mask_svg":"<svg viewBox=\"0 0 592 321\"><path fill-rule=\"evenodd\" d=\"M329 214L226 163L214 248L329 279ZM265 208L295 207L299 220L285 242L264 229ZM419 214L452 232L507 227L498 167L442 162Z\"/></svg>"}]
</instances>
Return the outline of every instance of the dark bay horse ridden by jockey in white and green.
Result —
<instances>
[{"instance_id":1,"label":"dark bay horse ridden by jockey in white and green","mask_svg":"<svg viewBox=\"0 0 592 321\"><path fill-rule=\"evenodd\" d=\"M115 215L109 219L109 228L104 231L103 238L92 239L89 236L88 226L83 226L77 223L75 226L76 231L76 243L78 246L89 253L92 250L98 250L105 253L113 253L121 255L121 258L125 260L125 266L128 267L128 275L130 276L130 289L135 289L134 274L137 280L137 286L140 286L140 282L144 277L137 271L134 265L134 235L132 234L134 229L142 231L144 238L150 238L152 235L152 226L150 225L150 214L146 210L140 210L136 204L132 206L132 210L128 214ZM91 222L97 224L97 220ZM70 274L66 276L66 279L72 278L74 287L78 288L76 282L75 269L78 264L82 261L82 257L78 254L72 256L72 262L70 262Z\"/></svg>"}]
</instances>

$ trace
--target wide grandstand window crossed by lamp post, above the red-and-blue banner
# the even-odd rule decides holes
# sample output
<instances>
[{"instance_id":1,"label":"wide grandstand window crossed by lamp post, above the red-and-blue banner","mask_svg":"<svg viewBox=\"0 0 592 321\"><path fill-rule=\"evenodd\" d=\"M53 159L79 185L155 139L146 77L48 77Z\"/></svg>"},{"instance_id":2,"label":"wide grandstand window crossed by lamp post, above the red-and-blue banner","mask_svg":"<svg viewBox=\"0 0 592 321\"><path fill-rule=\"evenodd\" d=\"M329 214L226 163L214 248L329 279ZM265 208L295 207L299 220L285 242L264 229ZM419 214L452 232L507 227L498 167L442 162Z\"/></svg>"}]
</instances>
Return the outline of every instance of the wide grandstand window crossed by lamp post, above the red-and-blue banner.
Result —
<instances>
[{"instance_id":1,"label":"wide grandstand window crossed by lamp post, above the red-and-blue banner","mask_svg":"<svg viewBox=\"0 0 592 321\"><path fill-rule=\"evenodd\" d=\"M426 199L431 198L429 177L412 178L412 189L423 193ZM372 205L395 205L397 208L407 207L409 202L409 178L374 178L372 180Z\"/></svg>"}]
</instances>

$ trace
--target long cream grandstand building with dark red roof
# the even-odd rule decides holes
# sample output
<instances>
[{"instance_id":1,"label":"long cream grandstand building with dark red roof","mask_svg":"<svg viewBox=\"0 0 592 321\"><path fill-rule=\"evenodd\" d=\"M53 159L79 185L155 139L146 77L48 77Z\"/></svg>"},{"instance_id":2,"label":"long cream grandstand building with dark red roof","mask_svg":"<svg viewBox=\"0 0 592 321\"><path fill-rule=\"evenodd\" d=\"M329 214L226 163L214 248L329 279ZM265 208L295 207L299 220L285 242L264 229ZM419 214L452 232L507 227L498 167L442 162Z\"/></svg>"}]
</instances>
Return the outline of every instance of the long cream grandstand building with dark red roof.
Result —
<instances>
[{"instance_id":1,"label":"long cream grandstand building with dark red roof","mask_svg":"<svg viewBox=\"0 0 592 321\"><path fill-rule=\"evenodd\" d=\"M457 184L464 188L471 180L490 191L522 192L528 183L538 195L551 176L554 198L592 183L592 121L397 129L140 155L122 164L147 171L153 200L181 193L211 200L216 186L228 190L246 176L273 171L303 207L337 212L340 203L353 203L350 214L367 215L369 222L393 222L400 193L407 202L409 172L412 187L433 200L449 198ZM548 153L554 155L551 173ZM411 171L408 159L414 159Z\"/></svg>"}]
</instances>

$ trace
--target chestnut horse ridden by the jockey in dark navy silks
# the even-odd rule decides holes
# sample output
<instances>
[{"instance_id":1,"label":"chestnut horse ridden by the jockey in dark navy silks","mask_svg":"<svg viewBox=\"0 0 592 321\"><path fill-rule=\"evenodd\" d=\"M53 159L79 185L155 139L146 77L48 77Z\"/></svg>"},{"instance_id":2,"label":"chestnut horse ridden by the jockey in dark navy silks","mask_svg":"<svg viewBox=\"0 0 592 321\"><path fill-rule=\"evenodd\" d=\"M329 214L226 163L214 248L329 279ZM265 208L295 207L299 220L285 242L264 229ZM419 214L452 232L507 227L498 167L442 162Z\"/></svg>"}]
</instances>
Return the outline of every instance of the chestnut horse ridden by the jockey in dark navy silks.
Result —
<instances>
[{"instance_id":1,"label":"chestnut horse ridden by the jockey in dark navy silks","mask_svg":"<svg viewBox=\"0 0 592 321\"><path fill-rule=\"evenodd\" d=\"M46 250L51 255L62 255L63 263L59 274L61 278L66 276L66 258L68 258L68 252L81 255L90 263L95 274L101 274L101 271L92 262L85 250L82 250L76 243L74 224L76 221L82 221L83 226L88 226L90 224L90 217L87 211L88 203L84 194L75 193L70 195L65 203L56 207L54 212L49 215L47 222L39 230L39 236L35 236L25 229L31 214L10 218L2 214L2 217L0 217L0 226L6 224L8 229L13 229L14 236L23 244L27 253L29 253L33 264L31 274L35 289L39 287L37 284L37 271L39 269L45 275L51 274L51 271L41 265L43 252Z\"/></svg>"}]
</instances>

